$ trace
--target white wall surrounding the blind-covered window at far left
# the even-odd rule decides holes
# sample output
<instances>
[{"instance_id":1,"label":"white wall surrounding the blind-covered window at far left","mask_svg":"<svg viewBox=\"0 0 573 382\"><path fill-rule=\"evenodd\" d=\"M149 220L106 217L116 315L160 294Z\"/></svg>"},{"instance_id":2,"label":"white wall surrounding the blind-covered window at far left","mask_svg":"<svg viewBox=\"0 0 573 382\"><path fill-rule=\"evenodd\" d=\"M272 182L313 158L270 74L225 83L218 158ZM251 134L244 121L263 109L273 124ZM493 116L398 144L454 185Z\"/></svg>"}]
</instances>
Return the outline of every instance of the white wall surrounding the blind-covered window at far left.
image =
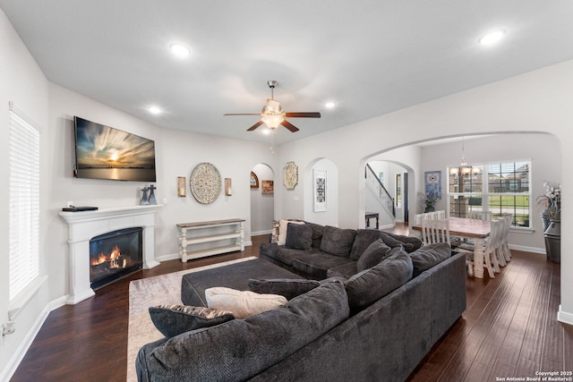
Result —
<instances>
[{"instance_id":1,"label":"white wall surrounding the blind-covered window at far left","mask_svg":"<svg viewBox=\"0 0 573 382\"><path fill-rule=\"evenodd\" d=\"M41 191L49 189L52 179L49 177L47 157L50 153L48 129L48 83L44 74L30 53L21 43L12 24L7 20L4 12L0 10L0 177L4 180L4 187L0 188L0 216L2 216L3 229L0 230L0 325L8 320L9 291L8 291L8 188L5 185L8 179L8 102L13 101L15 106L25 112L34 120L40 131L40 187ZM50 240L47 234L47 204L49 195L40 192L40 275L47 275L47 259L49 251L44 245ZM38 285L35 293L27 305L21 308L16 318L16 331L12 335L5 335L0 344L0 380L10 376L15 366L21 360L23 352L35 335L38 321L46 318L48 310L47 284Z\"/></svg>"}]
</instances>

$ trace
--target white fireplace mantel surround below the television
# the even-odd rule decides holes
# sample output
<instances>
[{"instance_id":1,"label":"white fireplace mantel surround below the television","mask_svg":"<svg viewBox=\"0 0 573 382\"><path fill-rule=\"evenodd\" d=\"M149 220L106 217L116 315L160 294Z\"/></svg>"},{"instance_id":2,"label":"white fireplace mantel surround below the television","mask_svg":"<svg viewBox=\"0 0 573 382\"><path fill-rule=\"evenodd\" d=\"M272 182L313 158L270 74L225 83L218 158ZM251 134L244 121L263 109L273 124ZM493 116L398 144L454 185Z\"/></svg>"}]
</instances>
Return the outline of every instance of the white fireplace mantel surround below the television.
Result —
<instances>
[{"instance_id":1,"label":"white fireplace mantel surround below the television","mask_svg":"<svg viewBox=\"0 0 573 382\"><path fill-rule=\"evenodd\" d=\"M143 267L159 265L155 259L155 214L162 205L100 208L95 211L60 212L68 224L70 294L67 304L95 295L90 288L90 239L123 228L143 228Z\"/></svg>"}]
</instances>

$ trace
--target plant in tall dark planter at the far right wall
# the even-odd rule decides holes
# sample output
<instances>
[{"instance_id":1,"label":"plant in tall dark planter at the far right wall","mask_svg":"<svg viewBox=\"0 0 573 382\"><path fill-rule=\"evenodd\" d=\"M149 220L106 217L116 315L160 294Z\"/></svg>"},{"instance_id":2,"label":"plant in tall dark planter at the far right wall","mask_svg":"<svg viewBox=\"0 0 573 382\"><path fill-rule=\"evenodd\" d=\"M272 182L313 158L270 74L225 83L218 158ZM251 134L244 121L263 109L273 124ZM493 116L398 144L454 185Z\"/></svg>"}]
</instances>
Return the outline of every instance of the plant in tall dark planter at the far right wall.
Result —
<instances>
[{"instance_id":1,"label":"plant in tall dark planter at the far right wall","mask_svg":"<svg viewBox=\"0 0 573 382\"><path fill-rule=\"evenodd\" d=\"M543 207L541 214L547 256L554 263L561 261L561 185L543 183L545 193L537 197L537 204Z\"/></svg>"}]
</instances>

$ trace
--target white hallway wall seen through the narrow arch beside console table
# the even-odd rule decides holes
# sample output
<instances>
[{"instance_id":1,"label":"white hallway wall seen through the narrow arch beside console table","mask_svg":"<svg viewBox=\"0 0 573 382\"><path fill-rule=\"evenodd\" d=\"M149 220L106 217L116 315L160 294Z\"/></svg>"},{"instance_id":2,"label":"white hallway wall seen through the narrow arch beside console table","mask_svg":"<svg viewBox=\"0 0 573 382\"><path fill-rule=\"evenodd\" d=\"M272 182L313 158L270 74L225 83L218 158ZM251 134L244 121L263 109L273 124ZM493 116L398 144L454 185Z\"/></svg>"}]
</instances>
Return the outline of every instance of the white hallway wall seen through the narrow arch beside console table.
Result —
<instances>
[{"instance_id":1,"label":"white hallway wall seen through the narrow arch beside console table","mask_svg":"<svg viewBox=\"0 0 573 382\"><path fill-rule=\"evenodd\" d=\"M262 193L262 181L275 181L273 170L265 165L258 164L252 172L259 178L259 188L251 190L251 230L252 234L270 233L272 221L275 217L275 194ZM275 188L278 183L274 183Z\"/></svg>"}]
</instances>

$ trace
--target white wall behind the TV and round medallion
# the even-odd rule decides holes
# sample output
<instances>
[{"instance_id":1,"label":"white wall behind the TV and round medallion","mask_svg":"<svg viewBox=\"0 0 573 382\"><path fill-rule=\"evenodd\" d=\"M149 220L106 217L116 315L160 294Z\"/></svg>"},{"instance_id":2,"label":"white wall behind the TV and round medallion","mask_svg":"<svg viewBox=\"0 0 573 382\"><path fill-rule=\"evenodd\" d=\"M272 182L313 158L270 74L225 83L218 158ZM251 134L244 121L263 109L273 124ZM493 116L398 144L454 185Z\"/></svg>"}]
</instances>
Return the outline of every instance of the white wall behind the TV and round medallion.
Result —
<instances>
[{"instance_id":1,"label":"white wall behind the TV and round medallion","mask_svg":"<svg viewBox=\"0 0 573 382\"><path fill-rule=\"evenodd\" d=\"M156 258L171 259L177 253L177 223L217 220L233 217L244 218L245 238L251 237L251 188L249 174L253 166L263 159L274 164L266 144L245 140L230 140L220 137L161 129L143 122L132 115L126 115L111 107L98 104L68 89L51 84L50 87L50 130L53 132L49 172L55 180L49 192L49 274L62 273L62 264L67 263L67 225L57 215L67 200L76 206L97 206L98 208L132 206L139 204L140 189L149 183L117 182L105 180L76 179L72 176L73 165L73 115L90 121L107 124L126 132L155 140L157 185L156 199L164 204L158 209L155 227ZM232 196L221 191L215 202L203 205L193 199L187 186L187 196L176 194L178 176L189 176L194 166L210 162L218 168L221 178L231 178ZM64 267L67 273L67 267ZM50 280L52 300L67 293L65 277Z\"/></svg>"}]
</instances>

